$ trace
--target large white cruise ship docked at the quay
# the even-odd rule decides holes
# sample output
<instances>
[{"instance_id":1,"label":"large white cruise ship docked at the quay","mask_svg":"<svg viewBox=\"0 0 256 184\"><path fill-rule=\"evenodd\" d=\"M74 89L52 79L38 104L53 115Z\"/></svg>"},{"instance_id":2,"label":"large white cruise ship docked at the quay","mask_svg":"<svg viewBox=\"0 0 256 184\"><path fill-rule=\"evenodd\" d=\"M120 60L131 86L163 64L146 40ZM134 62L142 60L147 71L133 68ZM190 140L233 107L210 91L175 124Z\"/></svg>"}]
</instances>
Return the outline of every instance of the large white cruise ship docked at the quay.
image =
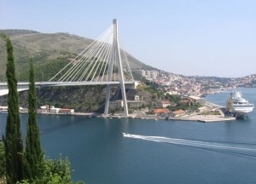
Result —
<instances>
[{"instance_id":1,"label":"large white cruise ship docked at the quay","mask_svg":"<svg viewBox=\"0 0 256 184\"><path fill-rule=\"evenodd\" d=\"M230 93L227 100L227 111L233 112L236 118L245 118L248 112L252 112L254 104L241 97L241 92Z\"/></svg>"}]
</instances>

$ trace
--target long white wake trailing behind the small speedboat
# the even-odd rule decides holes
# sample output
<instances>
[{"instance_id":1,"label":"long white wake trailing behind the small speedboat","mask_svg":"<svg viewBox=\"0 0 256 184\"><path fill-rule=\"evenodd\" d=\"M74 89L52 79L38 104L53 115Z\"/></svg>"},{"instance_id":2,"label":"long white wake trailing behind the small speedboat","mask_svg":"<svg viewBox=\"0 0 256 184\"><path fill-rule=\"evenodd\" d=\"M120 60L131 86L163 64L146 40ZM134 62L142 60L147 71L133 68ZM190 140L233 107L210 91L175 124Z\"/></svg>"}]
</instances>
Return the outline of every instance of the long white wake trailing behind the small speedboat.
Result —
<instances>
[{"instance_id":1,"label":"long white wake trailing behind the small speedboat","mask_svg":"<svg viewBox=\"0 0 256 184\"><path fill-rule=\"evenodd\" d=\"M123 133L124 137L133 139L140 139L145 141L163 142L173 145L197 147L212 151L225 151L229 153L242 154L246 156L256 157L256 145L247 143L231 143L231 142L214 142L214 141L194 141L185 139L175 139L163 136L145 136L145 135L131 135Z\"/></svg>"}]
</instances>

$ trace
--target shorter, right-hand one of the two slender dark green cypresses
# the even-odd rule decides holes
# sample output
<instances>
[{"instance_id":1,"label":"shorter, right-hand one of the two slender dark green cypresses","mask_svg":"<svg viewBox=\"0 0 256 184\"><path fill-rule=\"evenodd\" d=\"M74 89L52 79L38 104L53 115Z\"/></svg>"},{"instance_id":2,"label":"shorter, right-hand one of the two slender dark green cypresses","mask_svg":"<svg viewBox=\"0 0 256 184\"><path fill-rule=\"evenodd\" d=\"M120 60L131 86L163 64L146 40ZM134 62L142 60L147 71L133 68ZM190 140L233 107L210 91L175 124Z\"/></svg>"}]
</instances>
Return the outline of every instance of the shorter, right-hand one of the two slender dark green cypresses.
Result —
<instances>
[{"instance_id":1,"label":"shorter, right-hand one of the two slender dark green cypresses","mask_svg":"<svg viewBox=\"0 0 256 184\"><path fill-rule=\"evenodd\" d=\"M26 124L26 177L35 179L42 174L44 152L41 149L37 121L37 97L32 59L29 70L28 122Z\"/></svg>"}]
</instances>

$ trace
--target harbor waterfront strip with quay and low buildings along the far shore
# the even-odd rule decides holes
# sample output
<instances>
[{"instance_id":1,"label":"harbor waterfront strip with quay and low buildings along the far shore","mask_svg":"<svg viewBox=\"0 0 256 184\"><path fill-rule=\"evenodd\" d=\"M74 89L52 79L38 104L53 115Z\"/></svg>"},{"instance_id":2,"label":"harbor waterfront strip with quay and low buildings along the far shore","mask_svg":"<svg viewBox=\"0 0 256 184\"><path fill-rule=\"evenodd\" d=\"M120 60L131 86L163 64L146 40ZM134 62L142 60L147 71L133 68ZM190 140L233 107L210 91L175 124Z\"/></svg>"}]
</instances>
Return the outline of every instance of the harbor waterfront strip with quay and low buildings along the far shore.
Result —
<instances>
[{"instance_id":1,"label":"harbor waterfront strip with quay and low buildings along the far shore","mask_svg":"<svg viewBox=\"0 0 256 184\"><path fill-rule=\"evenodd\" d=\"M214 123L214 122L225 122L234 121L237 118L237 107L242 106L245 108L248 101L241 98L241 94L235 94L236 99L239 99L236 103L231 103L231 97L228 98L227 107L224 107L225 101L221 101L221 105L217 103L212 103L210 101L205 101L204 104L197 111L189 112L179 110L175 112L160 112L160 113L145 113L137 112L131 113L125 116L122 113L111 113L108 115L100 114L98 112L74 112L74 109L61 109L55 106L40 106L38 109L38 114L41 115L52 115L52 116L82 116L84 118L137 118L137 119L154 119L154 120L167 120L167 121L197 121L202 123ZM238 97L237 97L238 96ZM233 101L233 100L232 100ZM242 104L241 104L241 102ZM240 103L240 104L238 104ZM234 104L234 105L233 105ZM253 110L253 104L249 104L250 111ZM235 110L236 111L235 111ZM149 112L149 111L148 111ZM153 111L154 112L154 111ZM249 111L247 111L249 112ZM0 113L8 113L8 106L0 106ZM27 113L26 108L20 107L20 113Z\"/></svg>"}]
</instances>

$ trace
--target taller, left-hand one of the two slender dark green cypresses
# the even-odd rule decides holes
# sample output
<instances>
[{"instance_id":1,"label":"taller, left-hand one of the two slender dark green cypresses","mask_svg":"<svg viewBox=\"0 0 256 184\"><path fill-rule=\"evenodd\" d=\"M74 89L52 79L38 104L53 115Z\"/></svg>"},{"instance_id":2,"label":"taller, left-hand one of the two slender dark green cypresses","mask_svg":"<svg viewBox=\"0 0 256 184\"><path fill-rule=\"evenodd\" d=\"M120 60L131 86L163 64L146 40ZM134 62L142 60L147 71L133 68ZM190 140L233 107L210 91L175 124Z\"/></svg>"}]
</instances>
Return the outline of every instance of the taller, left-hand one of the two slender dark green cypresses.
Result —
<instances>
[{"instance_id":1,"label":"taller, left-hand one of the two slender dark green cypresses","mask_svg":"<svg viewBox=\"0 0 256 184\"><path fill-rule=\"evenodd\" d=\"M9 37L6 39L8 80L8 116L5 136L3 136L7 183L16 183L23 177L23 142L20 130L19 98L17 92L17 79L15 77L15 58L13 46Z\"/></svg>"}]
</instances>

